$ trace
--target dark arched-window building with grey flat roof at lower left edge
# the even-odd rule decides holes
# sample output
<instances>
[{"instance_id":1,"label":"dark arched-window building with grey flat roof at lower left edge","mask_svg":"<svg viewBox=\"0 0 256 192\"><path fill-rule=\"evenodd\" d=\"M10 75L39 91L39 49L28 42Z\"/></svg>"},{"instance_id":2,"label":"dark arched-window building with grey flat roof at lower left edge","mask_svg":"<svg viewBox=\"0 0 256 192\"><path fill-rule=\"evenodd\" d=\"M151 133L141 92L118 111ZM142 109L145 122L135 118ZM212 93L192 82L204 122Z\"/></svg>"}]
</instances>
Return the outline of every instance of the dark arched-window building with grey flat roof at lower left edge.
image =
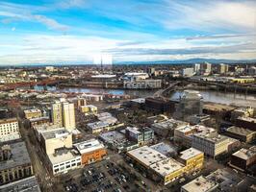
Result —
<instances>
[{"instance_id":1,"label":"dark arched-window building with grey flat roof at lower left edge","mask_svg":"<svg viewBox=\"0 0 256 192\"><path fill-rule=\"evenodd\" d=\"M0 147L0 185L33 175L33 167L25 142Z\"/></svg>"}]
</instances>

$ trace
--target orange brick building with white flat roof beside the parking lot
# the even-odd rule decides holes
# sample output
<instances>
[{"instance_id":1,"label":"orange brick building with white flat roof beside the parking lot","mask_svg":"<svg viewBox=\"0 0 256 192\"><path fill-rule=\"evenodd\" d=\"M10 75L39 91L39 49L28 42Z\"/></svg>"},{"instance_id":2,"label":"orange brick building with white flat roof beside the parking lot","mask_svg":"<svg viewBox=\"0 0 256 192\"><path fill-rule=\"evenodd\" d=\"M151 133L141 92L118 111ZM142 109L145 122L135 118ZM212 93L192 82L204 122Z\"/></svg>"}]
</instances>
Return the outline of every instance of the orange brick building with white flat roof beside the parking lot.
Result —
<instances>
[{"instance_id":1,"label":"orange brick building with white flat roof beside the parking lot","mask_svg":"<svg viewBox=\"0 0 256 192\"><path fill-rule=\"evenodd\" d=\"M74 147L81 155L81 162L83 165L100 161L107 156L107 150L104 145L96 139L90 139L80 143L74 144Z\"/></svg>"}]
</instances>

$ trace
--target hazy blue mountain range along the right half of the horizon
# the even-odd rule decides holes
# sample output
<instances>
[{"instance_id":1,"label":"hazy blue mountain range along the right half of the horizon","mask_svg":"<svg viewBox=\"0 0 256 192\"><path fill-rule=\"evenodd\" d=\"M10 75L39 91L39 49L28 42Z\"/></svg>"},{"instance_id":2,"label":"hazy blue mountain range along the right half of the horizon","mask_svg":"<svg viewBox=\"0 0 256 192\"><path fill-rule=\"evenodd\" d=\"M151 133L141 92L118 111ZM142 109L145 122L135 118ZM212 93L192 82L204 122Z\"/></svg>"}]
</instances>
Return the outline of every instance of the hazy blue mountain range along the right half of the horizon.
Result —
<instances>
[{"instance_id":1,"label":"hazy blue mountain range along the right half of the horizon","mask_svg":"<svg viewBox=\"0 0 256 192\"><path fill-rule=\"evenodd\" d=\"M152 61L123 61L115 64L192 64L192 63L210 62L210 63L253 63L256 60L224 60L224 59L190 59L190 60L152 60Z\"/></svg>"}]
</instances>

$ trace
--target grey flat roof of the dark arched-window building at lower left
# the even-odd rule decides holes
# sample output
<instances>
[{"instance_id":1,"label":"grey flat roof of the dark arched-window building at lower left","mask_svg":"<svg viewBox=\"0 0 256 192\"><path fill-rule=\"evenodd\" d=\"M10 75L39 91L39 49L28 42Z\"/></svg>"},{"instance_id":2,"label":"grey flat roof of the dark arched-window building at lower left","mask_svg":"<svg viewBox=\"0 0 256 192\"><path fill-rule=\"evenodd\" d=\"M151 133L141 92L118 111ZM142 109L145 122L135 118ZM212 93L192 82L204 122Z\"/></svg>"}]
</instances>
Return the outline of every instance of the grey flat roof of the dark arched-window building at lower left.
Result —
<instances>
[{"instance_id":1,"label":"grey flat roof of the dark arched-window building at lower left","mask_svg":"<svg viewBox=\"0 0 256 192\"><path fill-rule=\"evenodd\" d=\"M0 161L0 171L31 163L25 142L16 142L9 144L9 146L11 148L12 157L6 161Z\"/></svg>"}]
</instances>

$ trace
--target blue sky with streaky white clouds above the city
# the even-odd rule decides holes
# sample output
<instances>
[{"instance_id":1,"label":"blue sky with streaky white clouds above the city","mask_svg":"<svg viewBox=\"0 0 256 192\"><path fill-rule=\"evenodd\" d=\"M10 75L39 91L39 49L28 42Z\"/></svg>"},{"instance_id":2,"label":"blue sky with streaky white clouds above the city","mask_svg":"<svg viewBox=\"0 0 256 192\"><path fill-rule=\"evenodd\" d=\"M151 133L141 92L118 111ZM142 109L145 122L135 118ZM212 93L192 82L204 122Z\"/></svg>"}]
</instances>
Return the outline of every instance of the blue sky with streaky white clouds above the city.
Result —
<instances>
[{"instance_id":1,"label":"blue sky with streaky white clouds above the city","mask_svg":"<svg viewBox=\"0 0 256 192\"><path fill-rule=\"evenodd\" d=\"M0 0L0 64L256 59L256 1Z\"/></svg>"}]
</instances>

